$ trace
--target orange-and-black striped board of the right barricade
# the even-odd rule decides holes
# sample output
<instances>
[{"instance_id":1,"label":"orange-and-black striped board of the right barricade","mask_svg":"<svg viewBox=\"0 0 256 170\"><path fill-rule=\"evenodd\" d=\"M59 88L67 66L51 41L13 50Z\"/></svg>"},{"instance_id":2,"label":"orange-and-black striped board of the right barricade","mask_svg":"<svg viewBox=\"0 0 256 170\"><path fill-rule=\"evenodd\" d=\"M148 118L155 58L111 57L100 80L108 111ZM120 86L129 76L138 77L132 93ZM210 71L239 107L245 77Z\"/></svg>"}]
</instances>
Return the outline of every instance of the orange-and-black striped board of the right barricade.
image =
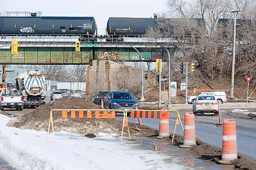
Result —
<instances>
[{"instance_id":1,"label":"orange-and-black striped board of the right barricade","mask_svg":"<svg viewBox=\"0 0 256 170\"><path fill-rule=\"evenodd\" d=\"M169 118L168 111L132 110L131 118Z\"/></svg>"}]
</instances>

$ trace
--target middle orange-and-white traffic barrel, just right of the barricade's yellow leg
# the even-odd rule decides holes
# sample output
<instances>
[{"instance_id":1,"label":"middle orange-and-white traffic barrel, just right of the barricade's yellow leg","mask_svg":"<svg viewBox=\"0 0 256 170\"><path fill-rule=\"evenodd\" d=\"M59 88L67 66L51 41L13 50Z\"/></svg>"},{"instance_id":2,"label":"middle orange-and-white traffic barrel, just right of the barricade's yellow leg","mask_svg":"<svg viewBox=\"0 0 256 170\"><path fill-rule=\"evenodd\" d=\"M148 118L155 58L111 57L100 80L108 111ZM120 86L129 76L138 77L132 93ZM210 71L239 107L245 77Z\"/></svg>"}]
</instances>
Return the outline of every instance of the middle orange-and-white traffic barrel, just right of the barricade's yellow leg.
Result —
<instances>
[{"instance_id":1,"label":"middle orange-and-white traffic barrel, just right of the barricade's yellow leg","mask_svg":"<svg viewBox=\"0 0 256 170\"><path fill-rule=\"evenodd\" d=\"M184 141L183 145L196 144L196 128L194 113L185 113L184 115Z\"/></svg>"}]
</instances>

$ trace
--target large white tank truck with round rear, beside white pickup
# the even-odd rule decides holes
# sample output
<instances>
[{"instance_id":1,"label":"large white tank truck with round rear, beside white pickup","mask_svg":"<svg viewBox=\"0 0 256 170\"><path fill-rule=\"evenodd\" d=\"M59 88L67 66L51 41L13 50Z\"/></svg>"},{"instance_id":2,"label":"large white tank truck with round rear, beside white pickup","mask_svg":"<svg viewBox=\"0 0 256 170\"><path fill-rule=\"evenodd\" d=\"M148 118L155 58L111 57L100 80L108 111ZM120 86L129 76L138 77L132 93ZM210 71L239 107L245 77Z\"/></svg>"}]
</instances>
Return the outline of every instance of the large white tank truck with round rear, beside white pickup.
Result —
<instances>
[{"instance_id":1,"label":"large white tank truck with round rear, beside white pickup","mask_svg":"<svg viewBox=\"0 0 256 170\"><path fill-rule=\"evenodd\" d=\"M28 71L19 74L16 86L19 93L23 95L24 108L38 107L46 101L47 79L41 71Z\"/></svg>"}]
</instances>

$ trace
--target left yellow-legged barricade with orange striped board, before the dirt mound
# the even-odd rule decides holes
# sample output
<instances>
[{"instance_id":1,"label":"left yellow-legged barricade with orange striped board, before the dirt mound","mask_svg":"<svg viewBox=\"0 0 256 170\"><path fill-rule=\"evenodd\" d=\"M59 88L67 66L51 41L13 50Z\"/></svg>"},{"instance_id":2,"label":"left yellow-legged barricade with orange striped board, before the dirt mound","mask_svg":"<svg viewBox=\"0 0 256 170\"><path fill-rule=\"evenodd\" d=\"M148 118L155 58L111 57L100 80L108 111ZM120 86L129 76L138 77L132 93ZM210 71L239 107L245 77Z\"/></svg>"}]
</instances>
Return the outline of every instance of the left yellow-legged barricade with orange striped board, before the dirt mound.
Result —
<instances>
[{"instance_id":1,"label":"left yellow-legged barricade with orange striped board, before the dirt mound","mask_svg":"<svg viewBox=\"0 0 256 170\"><path fill-rule=\"evenodd\" d=\"M53 111L61 111L62 118L115 118L116 111L123 112L123 125L122 125L122 134L121 134L121 141L123 137L123 129L127 127L129 133L129 139L131 140L131 134L129 130L129 125L127 123L127 112L124 110L113 110L113 109L53 109L50 112L49 118L49 126L48 126L48 134L50 132L50 126L52 124L52 132L54 134L53 128ZM127 126L125 125L127 123Z\"/></svg>"}]
</instances>

